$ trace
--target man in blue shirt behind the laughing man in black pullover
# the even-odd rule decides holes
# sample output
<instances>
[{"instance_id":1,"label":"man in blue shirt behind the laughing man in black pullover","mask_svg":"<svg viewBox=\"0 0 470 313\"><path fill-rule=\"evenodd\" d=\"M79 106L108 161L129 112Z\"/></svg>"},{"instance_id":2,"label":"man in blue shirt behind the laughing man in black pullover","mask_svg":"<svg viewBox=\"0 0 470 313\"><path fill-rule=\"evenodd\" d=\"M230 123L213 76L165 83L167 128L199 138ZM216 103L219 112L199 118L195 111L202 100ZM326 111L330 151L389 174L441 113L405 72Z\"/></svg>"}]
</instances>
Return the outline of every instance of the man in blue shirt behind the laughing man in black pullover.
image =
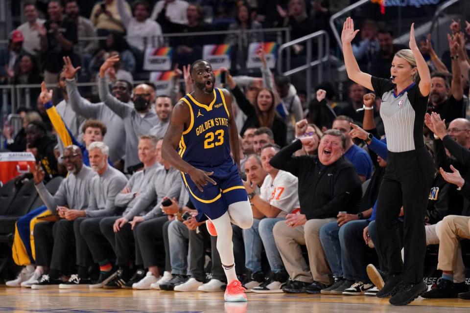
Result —
<instances>
[{"instance_id":1,"label":"man in blue shirt behind the laughing man in black pullover","mask_svg":"<svg viewBox=\"0 0 470 313\"><path fill-rule=\"evenodd\" d=\"M337 116L333 121L333 129L340 131L346 136L346 148L344 149L344 156L348 159L352 165L354 165L357 175L361 182L370 179L374 166L372 164L371 156L362 148L356 146L352 142L349 132L351 131L352 119L345 115Z\"/></svg>"}]
</instances>

